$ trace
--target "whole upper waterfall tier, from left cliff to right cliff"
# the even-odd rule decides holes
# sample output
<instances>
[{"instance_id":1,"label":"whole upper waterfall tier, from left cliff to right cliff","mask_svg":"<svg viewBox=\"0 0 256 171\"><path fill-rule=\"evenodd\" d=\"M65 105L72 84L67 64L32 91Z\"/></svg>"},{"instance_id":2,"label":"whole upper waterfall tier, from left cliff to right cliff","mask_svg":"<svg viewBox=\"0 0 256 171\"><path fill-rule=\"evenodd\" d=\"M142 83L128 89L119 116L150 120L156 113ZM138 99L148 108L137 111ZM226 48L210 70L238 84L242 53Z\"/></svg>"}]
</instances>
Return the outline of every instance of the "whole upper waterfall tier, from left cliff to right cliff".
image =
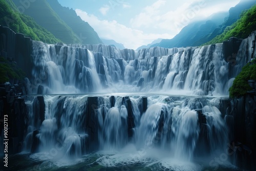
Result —
<instances>
[{"instance_id":1,"label":"whole upper waterfall tier, from left cliff to right cliff","mask_svg":"<svg viewBox=\"0 0 256 171\"><path fill-rule=\"evenodd\" d=\"M243 41L230 38L203 47L139 51L33 41L33 92L228 95L234 77L251 58L254 37L255 32Z\"/></svg>"}]
</instances>

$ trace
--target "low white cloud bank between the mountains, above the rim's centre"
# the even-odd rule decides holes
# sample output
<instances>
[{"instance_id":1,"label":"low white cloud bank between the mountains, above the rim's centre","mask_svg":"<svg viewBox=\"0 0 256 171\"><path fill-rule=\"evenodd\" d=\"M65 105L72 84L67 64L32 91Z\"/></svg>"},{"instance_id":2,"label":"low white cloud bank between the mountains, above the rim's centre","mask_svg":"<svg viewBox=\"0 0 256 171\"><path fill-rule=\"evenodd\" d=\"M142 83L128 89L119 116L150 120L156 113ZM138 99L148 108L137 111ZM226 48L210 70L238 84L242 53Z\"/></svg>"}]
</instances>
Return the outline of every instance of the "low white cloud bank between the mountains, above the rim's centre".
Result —
<instances>
[{"instance_id":1,"label":"low white cloud bank between the mountains, above the rim's centre","mask_svg":"<svg viewBox=\"0 0 256 171\"><path fill-rule=\"evenodd\" d=\"M114 39L124 45L125 48L137 49L142 45L150 44L153 40L162 38L172 38L174 35L164 34L145 34L138 29L132 29L124 25L118 24L116 20L99 20L95 15L90 15L87 12L76 9L77 15L84 21L88 22L99 37L105 39Z\"/></svg>"}]
</instances>

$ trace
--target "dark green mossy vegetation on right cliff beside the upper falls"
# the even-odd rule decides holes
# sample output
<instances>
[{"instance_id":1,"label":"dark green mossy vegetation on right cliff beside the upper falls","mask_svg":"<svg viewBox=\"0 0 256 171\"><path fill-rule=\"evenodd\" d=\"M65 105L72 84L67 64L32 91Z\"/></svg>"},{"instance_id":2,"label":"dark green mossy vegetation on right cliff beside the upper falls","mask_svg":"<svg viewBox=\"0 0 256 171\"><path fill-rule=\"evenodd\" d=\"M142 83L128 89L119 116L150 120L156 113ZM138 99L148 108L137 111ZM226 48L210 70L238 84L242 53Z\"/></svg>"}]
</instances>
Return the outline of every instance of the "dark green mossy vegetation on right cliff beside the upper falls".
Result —
<instances>
[{"instance_id":1,"label":"dark green mossy vegetation on right cliff beside the upper falls","mask_svg":"<svg viewBox=\"0 0 256 171\"><path fill-rule=\"evenodd\" d=\"M229 96L231 98L240 97L250 91L248 80L256 80L256 59L247 63L234 79L232 87L229 89Z\"/></svg>"}]
</instances>

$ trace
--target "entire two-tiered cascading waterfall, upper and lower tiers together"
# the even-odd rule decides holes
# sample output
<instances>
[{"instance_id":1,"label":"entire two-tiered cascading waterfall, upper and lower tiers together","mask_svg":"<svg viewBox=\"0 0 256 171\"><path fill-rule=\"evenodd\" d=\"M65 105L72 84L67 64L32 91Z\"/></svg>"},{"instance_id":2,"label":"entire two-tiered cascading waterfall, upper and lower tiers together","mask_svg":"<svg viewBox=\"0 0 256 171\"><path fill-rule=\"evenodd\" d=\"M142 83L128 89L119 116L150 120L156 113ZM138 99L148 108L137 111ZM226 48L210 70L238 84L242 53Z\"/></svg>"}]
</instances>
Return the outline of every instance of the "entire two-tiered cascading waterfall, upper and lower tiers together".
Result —
<instances>
[{"instance_id":1,"label":"entire two-tiered cascading waterfall, upper and lower tiers together","mask_svg":"<svg viewBox=\"0 0 256 171\"><path fill-rule=\"evenodd\" d=\"M55 166L78 159L92 169L212 167L233 138L233 118L220 104L246 62L245 41L234 66L222 44L136 52L33 41L30 80L44 95L27 97L26 151Z\"/></svg>"}]
</instances>

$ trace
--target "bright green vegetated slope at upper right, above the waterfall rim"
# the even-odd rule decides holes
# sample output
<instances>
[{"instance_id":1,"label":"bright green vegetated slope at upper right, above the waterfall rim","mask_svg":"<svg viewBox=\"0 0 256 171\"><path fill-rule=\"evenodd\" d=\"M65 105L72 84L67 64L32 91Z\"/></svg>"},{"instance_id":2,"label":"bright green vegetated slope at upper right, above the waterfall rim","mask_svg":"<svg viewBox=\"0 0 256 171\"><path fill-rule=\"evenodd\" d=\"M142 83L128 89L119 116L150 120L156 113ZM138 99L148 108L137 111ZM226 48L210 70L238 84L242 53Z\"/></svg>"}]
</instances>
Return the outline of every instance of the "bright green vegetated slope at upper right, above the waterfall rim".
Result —
<instances>
[{"instance_id":1,"label":"bright green vegetated slope at upper right, above the waterfall rim","mask_svg":"<svg viewBox=\"0 0 256 171\"><path fill-rule=\"evenodd\" d=\"M217 44L230 37L246 38L256 29L256 5L241 13L236 23L227 27L224 32L203 45Z\"/></svg>"}]
</instances>

